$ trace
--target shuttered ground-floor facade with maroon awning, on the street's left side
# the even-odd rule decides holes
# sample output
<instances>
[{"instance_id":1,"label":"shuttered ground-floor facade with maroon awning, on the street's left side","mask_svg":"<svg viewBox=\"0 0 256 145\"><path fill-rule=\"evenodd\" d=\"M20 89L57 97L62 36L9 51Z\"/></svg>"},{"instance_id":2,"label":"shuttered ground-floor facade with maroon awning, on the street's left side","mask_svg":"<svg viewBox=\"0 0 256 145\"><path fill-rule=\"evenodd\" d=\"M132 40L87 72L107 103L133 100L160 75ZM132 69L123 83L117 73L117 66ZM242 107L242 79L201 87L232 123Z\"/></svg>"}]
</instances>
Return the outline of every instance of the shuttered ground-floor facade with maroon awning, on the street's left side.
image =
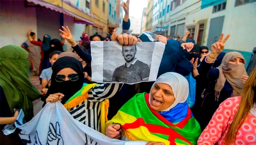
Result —
<instances>
[{"instance_id":1,"label":"shuttered ground-floor facade with maroon awning, on the street's left side","mask_svg":"<svg viewBox=\"0 0 256 145\"><path fill-rule=\"evenodd\" d=\"M93 24L93 15L85 9L85 2L85 0L0 0L0 47L8 44L20 46L27 40L29 29L32 29L41 40L45 34L61 39L59 29L62 25L69 26L74 39L79 41L85 25ZM71 47L67 44L65 48L69 50Z\"/></svg>"}]
</instances>

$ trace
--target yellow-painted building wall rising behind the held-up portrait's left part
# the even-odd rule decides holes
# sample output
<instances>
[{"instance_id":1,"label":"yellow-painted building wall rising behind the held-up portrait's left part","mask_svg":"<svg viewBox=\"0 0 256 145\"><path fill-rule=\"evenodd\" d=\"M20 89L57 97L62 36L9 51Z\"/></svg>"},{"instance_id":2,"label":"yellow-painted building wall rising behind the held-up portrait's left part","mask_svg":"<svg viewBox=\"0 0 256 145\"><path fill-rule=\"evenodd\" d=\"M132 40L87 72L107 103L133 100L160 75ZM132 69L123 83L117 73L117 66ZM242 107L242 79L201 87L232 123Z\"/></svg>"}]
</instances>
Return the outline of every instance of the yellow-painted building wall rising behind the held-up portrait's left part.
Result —
<instances>
[{"instance_id":1,"label":"yellow-painted building wall rising behind the held-up portrait's left part","mask_svg":"<svg viewBox=\"0 0 256 145\"><path fill-rule=\"evenodd\" d=\"M105 12L103 12L103 1L105 2ZM91 0L91 14L94 16L92 21L93 25L90 25L90 35L92 35L92 26L103 28L102 36L106 36L106 32L108 32L107 27L107 16L108 16L108 1L107 0L98 0L98 6L95 4L95 0Z\"/></svg>"}]
</instances>

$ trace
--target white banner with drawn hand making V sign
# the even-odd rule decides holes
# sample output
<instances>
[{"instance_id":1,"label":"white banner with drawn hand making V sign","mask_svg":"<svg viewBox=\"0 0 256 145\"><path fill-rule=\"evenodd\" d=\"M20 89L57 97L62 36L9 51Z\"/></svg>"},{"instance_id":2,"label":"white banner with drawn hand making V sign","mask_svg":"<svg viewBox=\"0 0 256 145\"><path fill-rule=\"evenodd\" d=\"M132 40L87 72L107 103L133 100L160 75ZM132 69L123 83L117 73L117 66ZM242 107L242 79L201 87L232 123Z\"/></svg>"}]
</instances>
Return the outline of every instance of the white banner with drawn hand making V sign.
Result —
<instances>
[{"instance_id":1,"label":"white banner with drawn hand making V sign","mask_svg":"<svg viewBox=\"0 0 256 145\"><path fill-rule=\"evenodd\" d=\"M74 119L60 101L47 103L29 122L17 126L25 144L146 144L112 139Z\"/></svg>"}]
</instances>

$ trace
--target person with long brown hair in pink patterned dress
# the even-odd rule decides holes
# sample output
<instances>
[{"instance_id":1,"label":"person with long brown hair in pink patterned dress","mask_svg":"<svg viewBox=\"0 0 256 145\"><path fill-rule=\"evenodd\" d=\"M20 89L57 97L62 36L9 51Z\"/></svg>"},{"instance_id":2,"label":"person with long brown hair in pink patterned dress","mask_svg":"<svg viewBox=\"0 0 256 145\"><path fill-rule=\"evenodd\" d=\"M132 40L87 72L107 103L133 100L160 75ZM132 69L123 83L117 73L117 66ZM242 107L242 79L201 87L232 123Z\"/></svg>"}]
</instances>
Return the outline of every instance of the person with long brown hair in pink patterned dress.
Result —
<instances>
[{"instance_id":1,"label":"person with long brown hair in pink patterned dress","mask_svg":"<svg viewBox=\"0 0 256 145\"><path fill-rule=\"evenodd\" d=\"M256 67L244 83L241 96L224 100L200 135L197 144L256 143Z\"/></svg>"}]
</instances>

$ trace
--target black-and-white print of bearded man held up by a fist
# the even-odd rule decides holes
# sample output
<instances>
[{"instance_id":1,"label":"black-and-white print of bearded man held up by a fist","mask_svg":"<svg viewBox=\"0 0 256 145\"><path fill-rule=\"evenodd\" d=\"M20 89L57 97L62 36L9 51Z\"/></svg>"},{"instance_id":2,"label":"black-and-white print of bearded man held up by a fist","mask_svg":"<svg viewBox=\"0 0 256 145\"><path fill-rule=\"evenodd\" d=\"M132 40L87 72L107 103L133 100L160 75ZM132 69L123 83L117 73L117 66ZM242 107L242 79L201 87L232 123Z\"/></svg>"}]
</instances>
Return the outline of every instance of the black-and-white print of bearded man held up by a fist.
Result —
<instances>
[{"instance_id":1,"label":"black-and-white print of bearded man held up by a fist","mask_svg":"<svg viewBox=\"0 0 256 145\"><path fill-rule=\"evenodd\" d=\"M120 45L114 41L91 44L92 80L96 82L137 83L156 80L165 45L161 42L138 42Z\"/></svg>"}]
</instances>

